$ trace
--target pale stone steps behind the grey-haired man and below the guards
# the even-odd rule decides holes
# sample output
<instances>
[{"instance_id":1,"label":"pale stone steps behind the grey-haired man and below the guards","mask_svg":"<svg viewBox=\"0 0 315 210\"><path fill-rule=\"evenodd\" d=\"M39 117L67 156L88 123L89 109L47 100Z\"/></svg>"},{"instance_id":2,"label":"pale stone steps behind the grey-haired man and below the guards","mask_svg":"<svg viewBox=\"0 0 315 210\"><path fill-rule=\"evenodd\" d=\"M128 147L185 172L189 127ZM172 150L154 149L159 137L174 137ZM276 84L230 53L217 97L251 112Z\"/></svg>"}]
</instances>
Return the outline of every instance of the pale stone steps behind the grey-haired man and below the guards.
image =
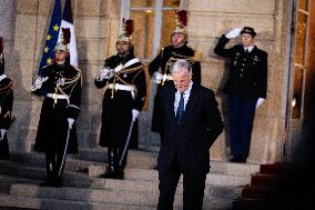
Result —
<instances>
[{"instance_id":1,"label":"pale stone steps behind the grey-haired man and below the guards","mask_svg":"<svg viewBox=\"0 0 315 210\"><path fill-rule=\"evenodd\" d=\"M100 179L105 171L106 150L81 150L69 156L63 188L39 187L45 177L44 154L13 153L0 161L0 209L153 210L159 199L159 174L152 168L156 153L129 151L124 180ZM231 210L235 198L260 170L258 164L211 162L204 209ZM182 209L182 179L174 209Z\"/></svg>"}]
</instances>

